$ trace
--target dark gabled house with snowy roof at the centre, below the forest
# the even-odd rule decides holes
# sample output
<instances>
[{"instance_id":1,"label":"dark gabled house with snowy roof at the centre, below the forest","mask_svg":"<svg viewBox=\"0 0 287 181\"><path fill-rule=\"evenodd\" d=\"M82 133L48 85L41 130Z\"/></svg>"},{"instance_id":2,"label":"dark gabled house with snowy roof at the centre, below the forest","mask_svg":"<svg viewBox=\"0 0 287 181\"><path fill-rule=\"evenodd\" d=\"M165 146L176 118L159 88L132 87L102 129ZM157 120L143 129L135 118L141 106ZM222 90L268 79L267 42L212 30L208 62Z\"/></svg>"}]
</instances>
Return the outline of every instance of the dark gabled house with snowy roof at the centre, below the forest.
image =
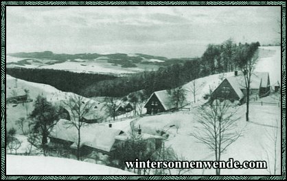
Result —
<instances>
[{"instance_id":1,"label":"dark gabled house with snowy roof at the centre, below the forest","mask_svg":"<svg viewBox=\"0 0 287 181\"><path fill-rule=\"evenodd\" d=\"M175 109L176 105L172 104L171 96L168 91L161 90L152 93L144 107L146 108L147 114L156 114Z\"/></svg>"}]
</instances>

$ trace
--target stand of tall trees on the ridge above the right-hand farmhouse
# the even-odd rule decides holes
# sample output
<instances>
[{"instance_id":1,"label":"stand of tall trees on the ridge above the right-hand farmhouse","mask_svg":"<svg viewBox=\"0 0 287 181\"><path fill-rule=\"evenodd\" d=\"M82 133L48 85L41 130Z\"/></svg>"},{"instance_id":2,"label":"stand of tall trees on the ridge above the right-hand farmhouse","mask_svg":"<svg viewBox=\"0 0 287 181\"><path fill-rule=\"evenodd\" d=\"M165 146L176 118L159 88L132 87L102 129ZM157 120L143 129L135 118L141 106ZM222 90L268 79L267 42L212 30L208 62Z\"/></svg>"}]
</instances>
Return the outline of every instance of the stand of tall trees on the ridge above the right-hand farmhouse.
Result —
<instances>
[{"instance_id":1,"label":"stand of tall trees on the ridge above the right-hand farmhouse","mask_svg":"<svg viewBox=\"0 0 287 181\"><path fill-rule=\"evenodd\" d=\"M209 44L201 57L202 74L217 74L237 70L242 64L242 59L246 59L246 53L253 55L258 46L260 46L259 42L236 44L231 39L222 44Z\"/></svg>"}]
</instances>

